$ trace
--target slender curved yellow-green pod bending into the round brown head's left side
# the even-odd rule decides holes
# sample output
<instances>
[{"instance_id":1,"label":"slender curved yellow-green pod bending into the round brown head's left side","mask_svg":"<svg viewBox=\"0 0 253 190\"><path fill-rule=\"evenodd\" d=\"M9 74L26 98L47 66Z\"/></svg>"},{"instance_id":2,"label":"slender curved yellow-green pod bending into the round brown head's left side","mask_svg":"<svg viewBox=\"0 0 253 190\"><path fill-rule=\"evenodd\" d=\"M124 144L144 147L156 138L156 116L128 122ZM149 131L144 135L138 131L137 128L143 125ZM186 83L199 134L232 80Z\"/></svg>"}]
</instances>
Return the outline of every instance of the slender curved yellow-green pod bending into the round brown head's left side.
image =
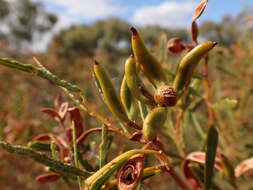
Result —
<instances>
[{"instance_id":1,"label":"slender curved yellow-green pod bending into the round brown head's left side","mask_svg":"<svg viewBox=\"0 0 253 190\"><path fill-rule=\"evenodd\" d=\"M152 100L147 99L140 92L140 82L136 71L135 59L132 56L130 56L125 63L125 78L127 86L137 100L143 102L144 104L154 105Z\"/></svg>"}]
</instances>

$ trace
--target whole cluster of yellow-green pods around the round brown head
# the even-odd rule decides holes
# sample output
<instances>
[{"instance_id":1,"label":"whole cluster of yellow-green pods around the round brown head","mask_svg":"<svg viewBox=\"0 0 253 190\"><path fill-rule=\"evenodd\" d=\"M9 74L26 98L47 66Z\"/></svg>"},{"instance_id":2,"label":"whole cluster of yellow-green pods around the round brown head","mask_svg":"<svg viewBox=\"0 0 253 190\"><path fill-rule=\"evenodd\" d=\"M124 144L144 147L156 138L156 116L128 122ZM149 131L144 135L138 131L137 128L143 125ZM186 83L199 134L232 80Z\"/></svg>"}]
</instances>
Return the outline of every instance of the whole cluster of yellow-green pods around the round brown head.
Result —
<instances>
[{"instance_id":1,"label":"whole cluster of yellow-green pods around the round brown head","mask_svg":"<svg viewBox=\"0 0 253 190\"><path fill-rule=\"evenodd\" d=\"M146 140L153 140L158 129L167 119L167 107L176 106L182 92L189 86L198 62L215 45L215 42L204 42L189 51L178 65L176 76L169 85L165 70L161 63L145 46L140 33L131 27L132 52L125 62L125 73L121 83L120 96L104 68L95 62L93 71L101 90L105 104L112 114L126 126L142 129ZM141 80L140 72L152 84L146 88ZM152 91L151 91L152 90ZM137 113L137 102L149 107L150 111L144 116L142 127L134 120Z\"/></svg>"}]
</instances>

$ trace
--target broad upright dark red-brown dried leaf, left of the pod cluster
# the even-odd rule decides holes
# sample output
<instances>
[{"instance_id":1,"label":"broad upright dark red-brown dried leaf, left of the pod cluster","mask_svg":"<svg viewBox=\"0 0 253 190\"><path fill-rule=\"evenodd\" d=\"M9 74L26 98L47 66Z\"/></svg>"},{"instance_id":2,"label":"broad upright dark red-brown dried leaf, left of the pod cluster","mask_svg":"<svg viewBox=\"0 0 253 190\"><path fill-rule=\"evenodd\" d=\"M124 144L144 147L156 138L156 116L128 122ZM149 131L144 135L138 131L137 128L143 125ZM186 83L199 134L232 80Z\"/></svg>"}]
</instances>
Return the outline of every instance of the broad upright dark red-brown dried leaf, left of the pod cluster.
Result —
<instances>
[{"instance_id":1,"label":"broad upright dark red-brown dried leaf, left of the pod cluster","mask_svg":"<svg viewBox=\"0 0 253 190\"><path fill-rule=\"evenodd\" d=\"M78 138L83 133L83 118L79 108L69 108L70 119L74 121L76 128L76 137Z\"/></svg>"}]
</instances>

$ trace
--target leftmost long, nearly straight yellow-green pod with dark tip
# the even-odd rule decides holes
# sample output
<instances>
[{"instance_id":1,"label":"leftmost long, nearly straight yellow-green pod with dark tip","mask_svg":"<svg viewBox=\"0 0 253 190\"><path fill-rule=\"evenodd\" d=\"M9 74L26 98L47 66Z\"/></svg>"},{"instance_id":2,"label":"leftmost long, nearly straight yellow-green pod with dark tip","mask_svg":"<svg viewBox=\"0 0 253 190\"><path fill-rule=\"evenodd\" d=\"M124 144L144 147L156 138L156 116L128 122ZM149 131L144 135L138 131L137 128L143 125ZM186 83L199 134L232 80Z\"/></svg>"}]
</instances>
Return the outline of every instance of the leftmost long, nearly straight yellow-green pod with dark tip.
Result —
<instances>
[{"instance_id":1,"label":"leftmost long, nearly straight yellow-green pod with dark tip","mask_svg":"<svg viewBox=\"0 0 253 190\"><path fill-rule=\"evenodd\" d=\"M127 113L124 109L124 106L122 105L119 97L117 96L116 90L109 76L96 61L95 65L93 66L93 71L101 87L105 104L119 120L125 123L129 123L130 120L127 117Z\"/></svg>"}]
</instances>

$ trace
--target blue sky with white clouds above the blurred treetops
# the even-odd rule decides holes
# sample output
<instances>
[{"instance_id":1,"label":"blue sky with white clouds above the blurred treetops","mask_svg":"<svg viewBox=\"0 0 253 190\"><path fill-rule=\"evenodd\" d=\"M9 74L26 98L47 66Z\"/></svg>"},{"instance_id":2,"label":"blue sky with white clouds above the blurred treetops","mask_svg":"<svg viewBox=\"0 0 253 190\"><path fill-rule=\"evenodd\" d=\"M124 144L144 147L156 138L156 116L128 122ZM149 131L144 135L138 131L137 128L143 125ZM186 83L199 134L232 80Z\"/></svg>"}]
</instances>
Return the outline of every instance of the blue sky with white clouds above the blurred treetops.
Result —
<instances>
[{"instance_id":1,"label":"blue sky with white clouds above the blurred treetops","mask_svg":"<svg viewBox=\"0 0 253 190\"><path fill-rule=\"evenodd\" d=\"M134 25L156 24L187 27L200 0L37 0L59 15L59 27L73 23L91 23L118 17ZM253 9L253 0L209 0L200 19L219 21L224 15L237 15L245 7Z\"/></svg>"}]
</instances>

